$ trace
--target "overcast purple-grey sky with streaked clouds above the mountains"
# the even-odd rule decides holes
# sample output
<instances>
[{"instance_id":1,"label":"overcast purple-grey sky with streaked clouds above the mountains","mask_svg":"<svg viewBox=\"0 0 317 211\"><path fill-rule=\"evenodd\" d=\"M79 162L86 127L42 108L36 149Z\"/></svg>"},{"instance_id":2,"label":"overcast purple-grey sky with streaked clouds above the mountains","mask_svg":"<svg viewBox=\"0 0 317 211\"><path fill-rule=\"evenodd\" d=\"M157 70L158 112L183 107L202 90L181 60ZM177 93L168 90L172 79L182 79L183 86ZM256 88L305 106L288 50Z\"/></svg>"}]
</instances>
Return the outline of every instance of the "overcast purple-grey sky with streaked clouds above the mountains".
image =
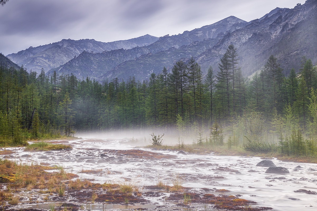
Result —
<instances>
[{"instance_id":1,"label":"overcast purple-grey sky with streaked clouds above the mountains","mask_svg":"<svg viewBox=\"0 0 317 211\"><path fill-rule=\"evenodd\" d=\"M9 0L0 6L0 52L62 39L127 40L164 36L228 16L251 21L305 0Z\"/></svg>"}]
</instances>

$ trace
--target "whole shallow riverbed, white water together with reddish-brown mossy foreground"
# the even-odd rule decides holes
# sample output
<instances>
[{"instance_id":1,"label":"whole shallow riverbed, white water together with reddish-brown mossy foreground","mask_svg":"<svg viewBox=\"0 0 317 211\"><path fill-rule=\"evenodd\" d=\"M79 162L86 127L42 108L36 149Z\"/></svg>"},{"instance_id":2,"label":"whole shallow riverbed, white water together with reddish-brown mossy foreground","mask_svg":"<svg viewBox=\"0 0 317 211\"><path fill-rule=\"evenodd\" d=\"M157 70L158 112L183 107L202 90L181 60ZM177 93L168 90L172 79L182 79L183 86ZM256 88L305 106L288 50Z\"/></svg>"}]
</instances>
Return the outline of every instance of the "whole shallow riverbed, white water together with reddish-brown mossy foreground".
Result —
<instances>
[{"instance_id":1,"label":"whole shallow riverbed, white water together with reddish-brown mossy foreground","mask_svg":"<svg viewBox=\"0 0 317 211\"><path fill-rule=\"evenodd\" d=\"M316 210L317 165L282 162L288 174L267 174L261 158L195 155L137 149L125 140L63 140L71 150L25 152L3 148L19 164L63 167L72 177L49 189L49 177L33 188L0 183L4 210ZM10 153L9 153L10 152ZM0 153L1 154L1 153ZM6 156L6 157L5 157ZM300 165L300 166L299 166ZM14 177L14 176L12 176ZM58 177L58 175L56 176ZM59 194L61 187L64 193ZM10 196L9 195L10 192ZM20 198L16 205L8 197Z\"/></svg>"}]
</instances>

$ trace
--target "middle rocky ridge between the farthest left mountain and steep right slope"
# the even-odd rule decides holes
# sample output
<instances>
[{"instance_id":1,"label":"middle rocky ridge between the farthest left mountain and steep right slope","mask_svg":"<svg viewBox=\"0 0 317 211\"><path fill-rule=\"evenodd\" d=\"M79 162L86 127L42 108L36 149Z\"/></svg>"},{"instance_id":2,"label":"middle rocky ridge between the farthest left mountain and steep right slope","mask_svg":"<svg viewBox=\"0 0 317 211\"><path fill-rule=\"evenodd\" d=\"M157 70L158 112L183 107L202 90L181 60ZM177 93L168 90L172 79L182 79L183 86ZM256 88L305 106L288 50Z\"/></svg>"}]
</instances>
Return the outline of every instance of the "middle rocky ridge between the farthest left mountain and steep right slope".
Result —
<instances>
[{"instance_id":1,"label":"middle rocky ridge between the farthest left mountain and steep right slope","mask_svg":"<svg viewBox=\"0 0 317 211\"><path fill-rule=\"evenodd\" d=\"M246 25L247 22L230 16L202 28L184 31L182 34L165 35L144 47L102 53L84 52L49 73L73 73L76 77L89 76L98 80L115 77L126 79L129 76L145 79L151 72L158 73L162 71L163 66L173 65L175 60L199 55L213 47L225 34Z\"/></svg>"}]
</instances>

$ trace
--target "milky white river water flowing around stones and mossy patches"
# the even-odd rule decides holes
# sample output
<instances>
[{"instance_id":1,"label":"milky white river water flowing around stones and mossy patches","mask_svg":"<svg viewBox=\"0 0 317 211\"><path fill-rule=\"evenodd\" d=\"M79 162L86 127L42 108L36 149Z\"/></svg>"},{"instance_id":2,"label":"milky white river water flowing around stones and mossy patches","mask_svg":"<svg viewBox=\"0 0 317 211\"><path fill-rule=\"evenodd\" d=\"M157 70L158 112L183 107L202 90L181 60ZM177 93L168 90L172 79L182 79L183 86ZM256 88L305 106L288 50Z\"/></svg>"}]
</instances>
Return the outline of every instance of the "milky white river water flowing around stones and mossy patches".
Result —
<instances>
[{"instance_id":1,"label":"milky white river water flowing around stones and mossy patches","mask_svg":"<svg viewBox=\"0 0 317 211\"><path fill-rule=\"evenodd\" d=\"M125 140L69 140L54 141L73 146L73 150L49 152L25 152L23 148L9 148L21 162L38 162L47 165L63 165L69 172L77 173L81 178L92 178L95 182L126 180L139 185L155 185L160 180L170 182L175 175L182 178L183 186L197 189L227 189L230 195L242 195L241 198L258 202L257 206L272 207L277 211L307 210L317 208L317 195L294 192L298 189L317 191L317 164L282 162L274 159L276 166L283 166L289 174L265 174L265 167L256 167L262 159L258 157L235 157L215 155L178 155L173 151L151 151L166 155L176 155L172 159L126 158L122 155L109 155L105 159L100 155L105 149L135 149ZM8 149L8 148L7 148ZM26 155L29 155L27 158ZM22 156L22 157L21 157ZM117 157L116 157L117 156ZM121 160L120 160L121 159ZM295 170L300 165L302 168ZM228 167L220 171L219 167ZM102 169L97 175L78 173L81 170ZM232 171L231 171L232 170ZM255 172L248 172L254 170ZM236 172L238 171L238 172ZM222 179L210 179L223 176ZM163 203L160 198L152 201Z\"/></svg>"}]
</instances>

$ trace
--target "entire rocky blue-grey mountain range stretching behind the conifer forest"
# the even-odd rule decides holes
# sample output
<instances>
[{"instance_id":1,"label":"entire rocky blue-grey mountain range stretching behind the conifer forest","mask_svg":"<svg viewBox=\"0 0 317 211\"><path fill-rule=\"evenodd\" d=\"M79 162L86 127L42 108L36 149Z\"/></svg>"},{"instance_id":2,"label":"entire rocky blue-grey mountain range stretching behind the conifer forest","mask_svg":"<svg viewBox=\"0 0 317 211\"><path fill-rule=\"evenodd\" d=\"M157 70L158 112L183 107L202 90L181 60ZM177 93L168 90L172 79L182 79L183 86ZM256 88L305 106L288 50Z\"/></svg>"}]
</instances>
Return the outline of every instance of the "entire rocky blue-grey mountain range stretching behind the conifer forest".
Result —
<instances>
[{"instance_id":1,"label":"entire rocky blue-grey mountain range stretching behind the conifer forest","mask_svg":"<svg viewBox=\"0 0 317 211\"><path fill-rule=\"evenodd\" d=\"M317 63L316 34L317 1L307 0L293 9L273 9L250 22L230 16L182 34L159 38L147 34L108 43L61 40L7 57L28 69L44 68L47 74L73 73L78 78L98 81L130 76L143 80L152 72L161 72L164 66L171 69L176 61L191 57L202 66L203 73L210 65L217 71L220 58L234 44L244 76L261 70L270 55L278 58L287 75L291 68L299 70L302 56Z\"/></svg>"}]
</instances>

